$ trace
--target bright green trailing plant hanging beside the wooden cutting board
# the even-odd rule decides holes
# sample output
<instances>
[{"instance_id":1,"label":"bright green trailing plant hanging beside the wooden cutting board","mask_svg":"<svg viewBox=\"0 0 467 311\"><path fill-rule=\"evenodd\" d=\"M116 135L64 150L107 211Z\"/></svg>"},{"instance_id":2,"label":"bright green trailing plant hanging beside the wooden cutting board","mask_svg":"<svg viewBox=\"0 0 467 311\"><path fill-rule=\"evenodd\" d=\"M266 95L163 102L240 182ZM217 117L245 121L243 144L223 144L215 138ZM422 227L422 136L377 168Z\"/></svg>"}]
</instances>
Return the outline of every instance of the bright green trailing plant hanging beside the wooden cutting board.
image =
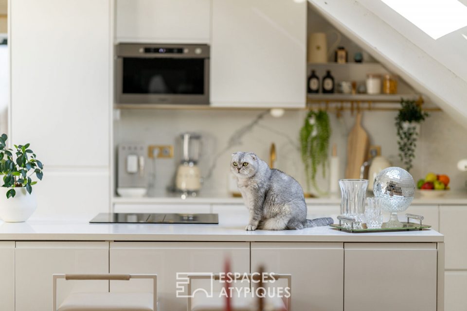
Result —
<instances>
[{"instance_id":1,"label":"bright green trailing plant hanging beside the wooden cutting board","mask_svg":"<svg viewBox=\"0 0 467 311\"><path fill-rule=\"evenodd\" d=\"M316 173L318 167L322 166L323 177L326 176L330 137L331 126L327 112L322 110L308 112L300 130L300 147L308 190L312 186L317 192L323 193L316 183Z\"/></svg>"}]
</instances>

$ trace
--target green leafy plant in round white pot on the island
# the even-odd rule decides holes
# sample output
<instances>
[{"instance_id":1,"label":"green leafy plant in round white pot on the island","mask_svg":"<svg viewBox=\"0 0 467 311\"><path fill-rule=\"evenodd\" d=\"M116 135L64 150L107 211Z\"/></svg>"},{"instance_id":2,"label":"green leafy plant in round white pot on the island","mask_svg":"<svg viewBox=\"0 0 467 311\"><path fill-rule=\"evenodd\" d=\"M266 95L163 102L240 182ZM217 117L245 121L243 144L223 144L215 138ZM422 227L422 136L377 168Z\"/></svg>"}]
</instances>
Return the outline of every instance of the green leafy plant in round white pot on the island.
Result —
<instances>
[{"instance_id":1,"label":"green leafy plant in round white pot on the island","mask_svg":"<svg viewBox=\"0 0 467 311\"><path fill-rule=\"evenodd\" d=\"M6 134L0 136L0 175L3 175L0 218L5 222L24 222L37 207L36 196L32 192L37 181L31 177L36 175L41 180L43 165L29 149L29 144L14 145L15 149L6 148L7 138Z\"/></svg>"}]
</instances>

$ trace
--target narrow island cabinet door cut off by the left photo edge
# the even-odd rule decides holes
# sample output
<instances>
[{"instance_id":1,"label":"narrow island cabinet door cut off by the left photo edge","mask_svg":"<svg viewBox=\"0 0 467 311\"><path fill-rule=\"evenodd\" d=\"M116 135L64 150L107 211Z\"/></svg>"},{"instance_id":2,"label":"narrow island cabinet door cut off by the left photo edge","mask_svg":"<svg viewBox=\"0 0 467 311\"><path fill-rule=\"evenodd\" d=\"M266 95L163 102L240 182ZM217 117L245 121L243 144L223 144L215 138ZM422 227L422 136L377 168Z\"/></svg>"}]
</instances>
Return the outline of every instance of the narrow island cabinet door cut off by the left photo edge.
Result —
<instances>
[{"instance_id":1,"label":"narrow island cabinet door cut off by the left photo edge","mask_svg":"<svg viewBox=\"0 0 467 311\"><path fill-rule=\"evenodd\" d=\"M0 242L0 306L15 311L15 242Z\"/></svg>"}]
</instances>

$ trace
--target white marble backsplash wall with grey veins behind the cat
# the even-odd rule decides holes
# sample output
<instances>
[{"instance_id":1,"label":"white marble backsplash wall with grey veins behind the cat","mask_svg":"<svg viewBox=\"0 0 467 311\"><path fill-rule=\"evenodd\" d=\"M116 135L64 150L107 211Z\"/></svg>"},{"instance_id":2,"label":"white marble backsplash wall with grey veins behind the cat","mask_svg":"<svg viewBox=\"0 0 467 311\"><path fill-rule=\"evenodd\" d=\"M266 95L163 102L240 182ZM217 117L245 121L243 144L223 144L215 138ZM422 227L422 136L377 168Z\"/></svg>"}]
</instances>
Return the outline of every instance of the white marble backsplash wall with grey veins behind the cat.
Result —
<instances>
[{"instance_id":1,"label":"white marble backsplash wall with grey veins behind the cat","mask_svg":"<svg viewBox=\"0 0 467 311\"><path fill-rule=\"evenodd\" d=\"M261 111L207 111L207 110L122 110L121 120L115 124L115 143L141 141L145 144L175 144L176 137L183 131L200 132L205 138L205 153L200 160L202 174L207 173L214 155L226 147L226 142L240 127L248 124ZM277 148L277 165L294 176L305 186L304 169L298 147L298 133L303 124L305 111L287 111L282 118L273 118L269 114L242 139L242 144L226 150L217 160L212 178L206 180L204 192L226 194L229 174L230 155L234 151L254 151L268 161L269 146L272 142ZM400 162L397 156L397 140L394 118L396 112L364 112L363 127L370 136L371 144L381 145L382 154L394 165ZM347 134L352 128L354 118L350 112L336 118L330 114L332 124L331 145L338 144L341 157L341 178L345 168L345 150ZM452 122L443 112L433 112L421 127L416 158L411 173L414 179L423 177L429 171L446 173L451 177L452 189L464 189L467 174L457 171L456 163L467 155L465 141L467 130ZM180 145L175 144L176 154ZM179 157L172 160L156 160L155 195L163 195L164 189L171 184ZM148 161L147 169L151 170ZM321 176L321 175L320 175ZM328 181L321 179L323 189Z\"/></svg>"}]
</instances>

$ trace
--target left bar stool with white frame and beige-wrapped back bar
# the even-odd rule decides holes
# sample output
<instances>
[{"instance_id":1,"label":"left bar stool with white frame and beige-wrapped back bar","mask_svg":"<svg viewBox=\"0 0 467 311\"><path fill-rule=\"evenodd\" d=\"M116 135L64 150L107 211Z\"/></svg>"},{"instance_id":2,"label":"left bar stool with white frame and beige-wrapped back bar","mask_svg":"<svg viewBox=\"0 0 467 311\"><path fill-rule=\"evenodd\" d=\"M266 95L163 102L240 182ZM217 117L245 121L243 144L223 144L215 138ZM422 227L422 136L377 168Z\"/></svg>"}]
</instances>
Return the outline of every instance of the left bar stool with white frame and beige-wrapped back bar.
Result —
<instances>
[{"instance_id":1,"label":"left bar stool with white frame and beige-wrapped back bar","mask_svg":"<svg viewBox=\"0 0 467 311\"><path fill-rule=\"evenodd\" d=\"M129 280L151 278L153 293L72 293L57 309L57 279ZM155 274L54 274L53 311L157 311L157 275Z\"/></svg>"}]
</instances>

